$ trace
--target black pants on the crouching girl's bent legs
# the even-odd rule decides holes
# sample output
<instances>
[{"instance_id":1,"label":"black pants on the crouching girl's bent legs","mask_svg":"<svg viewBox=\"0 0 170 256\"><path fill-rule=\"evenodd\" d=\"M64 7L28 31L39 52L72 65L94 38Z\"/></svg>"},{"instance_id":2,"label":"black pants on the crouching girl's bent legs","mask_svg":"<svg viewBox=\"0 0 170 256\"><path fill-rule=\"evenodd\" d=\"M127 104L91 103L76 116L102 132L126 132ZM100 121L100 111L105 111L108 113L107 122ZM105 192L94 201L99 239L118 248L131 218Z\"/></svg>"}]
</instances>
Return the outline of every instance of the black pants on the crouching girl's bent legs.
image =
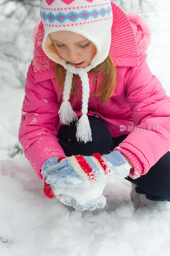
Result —
<instances>
[{"instance_id":1,"label":"black pants on the crouching girl's bent legs","mask_svg":"<svg viewBox=\"0 0 170 256\"><path fill-rule=\"evenodd\" d=\"M63 125L58 132L59 144L66 156L91 156L93 153L109 154L127 136L112 137L107 126L99 118L88 116L92 130L92 141L78 142L76 138L76 121ZM146 194L153 201L170 200L170 152L168 151L154 164L149 172L133 180L125 178L137 185L136 192Z\"/></svg>"}]
</instances>

